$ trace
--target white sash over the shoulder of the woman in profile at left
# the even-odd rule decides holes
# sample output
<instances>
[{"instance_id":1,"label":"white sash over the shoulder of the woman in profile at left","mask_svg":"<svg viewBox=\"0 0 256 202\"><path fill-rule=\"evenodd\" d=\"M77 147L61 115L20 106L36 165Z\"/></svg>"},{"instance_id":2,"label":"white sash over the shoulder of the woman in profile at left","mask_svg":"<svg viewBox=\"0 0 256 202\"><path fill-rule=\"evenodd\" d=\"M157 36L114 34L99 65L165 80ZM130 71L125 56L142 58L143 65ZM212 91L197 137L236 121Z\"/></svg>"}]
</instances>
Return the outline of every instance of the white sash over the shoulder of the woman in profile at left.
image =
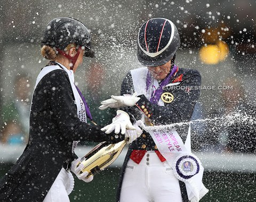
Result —
<instances>
[{"instance_id":1,"label":"white sash over the shoulder of the woman in profile at left","mask_svg":"<svg viewBox=\"0 0 256 202\"><path fill-rule=\"evenodd\" d=\"M49 72L53 71L53 70L63 70L66 71L68 73L68 78L70 81L70 85L75 97L75 104L77 106L77 116L79 118L80 121L82 122L86 122L87 123L87 119L86 119L86 113L85 113L85 106L84 106L84 102L81 98L81 96L79 95L76 86L75 86L75 79L74 79L74 72L73 70L68 70L65 66L63 66L62 64L58 63L63 69L60 68L60 66L58 65L51 65L51 66L45 66L45 68L42 69L42 71L38 74L38 77L36 79L36 85L35 88L37 87L39 81L41 81L41 79ZM65 110L65 109L63 109ZM77 146L79 141L73 141L73 146L72 146L72 153L74 153L74 150Z\"/></svg>"}]
</instances>

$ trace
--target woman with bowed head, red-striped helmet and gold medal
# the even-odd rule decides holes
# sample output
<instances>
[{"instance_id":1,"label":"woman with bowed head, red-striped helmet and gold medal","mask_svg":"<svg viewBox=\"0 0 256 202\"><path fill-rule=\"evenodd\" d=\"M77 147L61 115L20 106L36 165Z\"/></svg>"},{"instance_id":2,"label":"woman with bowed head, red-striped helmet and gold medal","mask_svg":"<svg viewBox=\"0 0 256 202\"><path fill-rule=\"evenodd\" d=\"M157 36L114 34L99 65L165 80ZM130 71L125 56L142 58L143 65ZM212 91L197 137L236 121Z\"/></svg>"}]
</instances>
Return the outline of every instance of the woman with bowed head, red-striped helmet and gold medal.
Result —
<instances>
[{"instance_id":1,"label":"woman with bowed head, red-striped helmet and gold medal","mask_svg":"<svg viewBox=\"0 0 256 202\"><path fill-rule=\"evenodd\" d=\"M139 62L146 67L129 71L122 83L121 96L111 96L99 108L125 107L134 121L142 120L148 126L190 121L199 97L199 90L190 87L201 85L201 75L196 70L178 68L174 64L179 45L178 29L172 21L155 18L145 22L138 35L137 56ZM135 97L134 92L137 92L138 97ZM133 96L122 96L124 94ZM173 138L174 134L167 136L167 133L155 129L153 133L144 130L140 138L132 142L121 171L117 201L181 202L198 201L204 196L207 189L202 179L199 181L198 194L194 196L190 189L187 194L185 184L181 182L185 180L178 180L174 175L173 162L170 159L166 161L164 154L168 154L168 157L173 152L180 152L181 148L186 147L190 154L189 138L185 146L187 136L190 137L188 125L176 128L176 131L179 140L177 134ZM163 142L168 144L169 150L164 150L166 153L162 153ZM189 161L184 162L188 170L191 169ZM199 172L198 169L198 173L201 174L202 170Z\"/></svg>"}]
</instances>

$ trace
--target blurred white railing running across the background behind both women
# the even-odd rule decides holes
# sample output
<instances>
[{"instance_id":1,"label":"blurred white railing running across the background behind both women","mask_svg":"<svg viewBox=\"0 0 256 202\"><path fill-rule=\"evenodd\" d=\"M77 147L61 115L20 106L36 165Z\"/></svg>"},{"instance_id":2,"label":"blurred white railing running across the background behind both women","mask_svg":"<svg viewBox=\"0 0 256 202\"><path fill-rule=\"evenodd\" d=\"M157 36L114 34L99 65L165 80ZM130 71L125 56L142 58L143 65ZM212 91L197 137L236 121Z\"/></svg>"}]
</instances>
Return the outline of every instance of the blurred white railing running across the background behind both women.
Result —
<instances>
[{"instance_id":1,"label":"blurred white railing running across the background behind both women","mask_svg":"<svg viewBox=\"0 0 256 202\"><path fill-rule=\"evenodd\" d=\"M77 156L82 157L93 147L78 146L75 150ZM14 163L22 154L25 146L0 145L0 163ZM121 155L111 164L111 167L120 167L123 164L127 147ZM251 154L227 153L196 153L205 168L205 171L219 172L256 172L256 158Z\"/></svg>"}]
</instances>

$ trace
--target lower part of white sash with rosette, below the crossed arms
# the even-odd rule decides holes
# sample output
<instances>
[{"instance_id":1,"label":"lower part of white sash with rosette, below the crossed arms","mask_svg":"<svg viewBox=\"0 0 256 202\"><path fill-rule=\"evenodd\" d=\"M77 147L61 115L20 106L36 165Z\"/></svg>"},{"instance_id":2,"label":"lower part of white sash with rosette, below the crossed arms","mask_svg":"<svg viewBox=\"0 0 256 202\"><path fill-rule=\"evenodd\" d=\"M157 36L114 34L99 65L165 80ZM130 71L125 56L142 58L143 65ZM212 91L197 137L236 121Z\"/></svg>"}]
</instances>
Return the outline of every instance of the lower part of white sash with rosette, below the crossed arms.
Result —
<instances>
[{"instance_id":1,"label":"lower part of white sash with rosette, below the crossed arms","mask_svg":"<svg viewBox=\"0 0 256 202\"><path fill-rule=\"evenodd\" d=\"M178 180L185 182L189 201L198 202L208 190L202 183L204 168L199 159L190 151L190 125L185 144L175 130L161 130L158 127L144 127L143 129L150 134L159 152L173 167L174 175ZM189 172L190 170L192 171Z\"/></svg>"}]
</instances>

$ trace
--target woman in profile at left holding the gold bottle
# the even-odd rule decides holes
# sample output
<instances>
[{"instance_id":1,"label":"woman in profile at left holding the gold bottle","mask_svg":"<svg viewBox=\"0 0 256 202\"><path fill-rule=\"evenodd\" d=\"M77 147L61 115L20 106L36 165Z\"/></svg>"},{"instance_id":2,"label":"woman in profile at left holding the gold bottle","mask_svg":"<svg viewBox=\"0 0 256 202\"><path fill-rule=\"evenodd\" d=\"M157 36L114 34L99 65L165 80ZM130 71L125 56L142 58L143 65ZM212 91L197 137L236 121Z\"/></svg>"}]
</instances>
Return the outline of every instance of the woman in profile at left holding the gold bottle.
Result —
<instances>
[{"instance_id":1,"label":"woman in profile at left holding the gold bottle","mask_svg":"<svg viewBox=\"0 0 256 202\"><path fill-rule=\"evenodd\" d=\"M41 53L50 62L36 80L28 144L17 163L0 180L1 202L69 201L68 194L74 186L70 168L79 179L92 180L85 178L88 173L80 174L83 167L76 167L80 159L74 153L77 143L124 139L121 133L106 134L99 127L87 124L92 116L74 84L74 72L83 56L94 57L90 40L89 30L76 19L56 18L47 25ZM131 124L125 112L121 117L119 120Z\"/></svg>"}]
</instances>

